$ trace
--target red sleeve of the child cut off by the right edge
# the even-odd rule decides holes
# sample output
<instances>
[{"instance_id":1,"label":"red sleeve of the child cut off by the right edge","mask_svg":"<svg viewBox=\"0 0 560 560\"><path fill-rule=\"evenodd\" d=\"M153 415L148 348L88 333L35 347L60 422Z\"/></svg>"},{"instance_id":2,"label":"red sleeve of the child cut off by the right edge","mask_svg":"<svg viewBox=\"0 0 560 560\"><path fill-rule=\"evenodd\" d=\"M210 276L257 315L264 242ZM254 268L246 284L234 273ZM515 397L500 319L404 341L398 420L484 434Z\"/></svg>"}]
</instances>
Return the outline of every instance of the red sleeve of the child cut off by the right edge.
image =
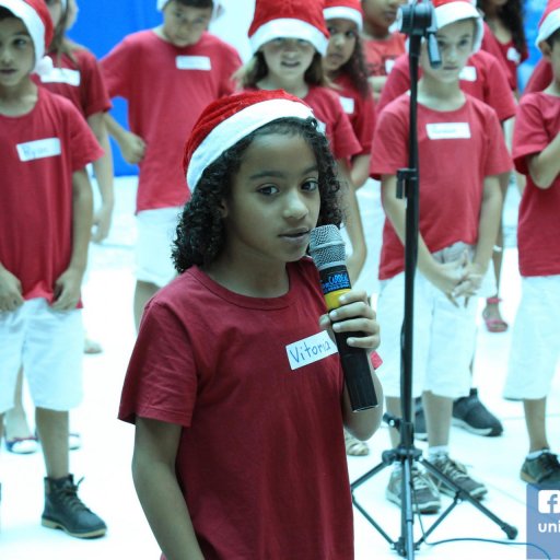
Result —
<instances>
[{"instance_id":1,"label":"red sleeve of the child cut off by the right edge","mask_svg":"<svg viewBox=\"0 0 560 560\"><path fill-rule=\"evenodd\" d=\"M524 175L529 174L527 155L541 152L550 142L535 101L534 95L522 98L513 130L513 162Z\"/></svg>"}]
</instances>

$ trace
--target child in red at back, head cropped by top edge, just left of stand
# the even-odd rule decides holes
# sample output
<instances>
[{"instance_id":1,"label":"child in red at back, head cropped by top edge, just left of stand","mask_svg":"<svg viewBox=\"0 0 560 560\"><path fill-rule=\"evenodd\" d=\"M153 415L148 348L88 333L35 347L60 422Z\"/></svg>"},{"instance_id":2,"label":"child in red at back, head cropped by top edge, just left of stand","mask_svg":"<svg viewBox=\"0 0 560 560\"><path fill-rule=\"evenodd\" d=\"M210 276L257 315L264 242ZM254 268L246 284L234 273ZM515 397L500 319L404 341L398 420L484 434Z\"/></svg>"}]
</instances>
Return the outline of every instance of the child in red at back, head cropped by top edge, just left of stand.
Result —
<instances>
[{"instance_id":1,"label":"child in red at back, head cropped by top edge, just left of stand","mask_svg":"<svg viewBox=\"0 0 560 560\"><path fill-rule=\"evenodd\" d=\"M362 38L368 75L376 101L381 96L394 61L406 51L405 35L392 31L398 7L404 3L406 0L362 0Z\"/></svg>"}]
</instances>

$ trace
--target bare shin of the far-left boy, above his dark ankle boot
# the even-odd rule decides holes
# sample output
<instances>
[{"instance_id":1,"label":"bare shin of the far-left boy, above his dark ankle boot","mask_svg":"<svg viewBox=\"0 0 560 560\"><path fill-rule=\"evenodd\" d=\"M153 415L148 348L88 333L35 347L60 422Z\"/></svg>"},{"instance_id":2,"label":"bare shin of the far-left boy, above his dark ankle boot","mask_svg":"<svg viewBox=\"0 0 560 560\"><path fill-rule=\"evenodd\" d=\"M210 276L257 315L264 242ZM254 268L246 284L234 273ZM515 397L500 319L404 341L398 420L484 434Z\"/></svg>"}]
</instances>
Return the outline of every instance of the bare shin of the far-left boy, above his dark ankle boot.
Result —
<instances>
[{"instance_id":1,"label":"bare shin of the far-left boy, above his dark ankle boot","mask_svg":"<svg viewBox=\"0 0 560 560\"><path fill-rule=\"evenodd\" d=\"M43 445L45 467L49 478L59 479L69 474L68 411L37 408L35 422Z\"/></svg>"}]
</instances>

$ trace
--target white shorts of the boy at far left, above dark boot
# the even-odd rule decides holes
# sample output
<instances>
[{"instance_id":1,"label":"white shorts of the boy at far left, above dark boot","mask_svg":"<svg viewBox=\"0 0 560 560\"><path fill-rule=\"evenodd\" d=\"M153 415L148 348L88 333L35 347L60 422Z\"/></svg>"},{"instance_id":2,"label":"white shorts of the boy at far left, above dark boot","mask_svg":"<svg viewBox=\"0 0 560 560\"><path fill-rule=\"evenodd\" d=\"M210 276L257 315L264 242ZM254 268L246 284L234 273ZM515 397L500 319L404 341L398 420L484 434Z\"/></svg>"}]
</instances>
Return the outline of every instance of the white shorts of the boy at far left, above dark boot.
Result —
<instances>
[{"instance_id":1,"label":"white shorts of the boy at far left, above dark boot","mask_svg":"<svg viewBox=\"0 0 560 560\"><path fill-rule=\"evenodd\" d=\"M22 365L36 407L77 407L83 394L82 355L81 310L52 311L37 298L0 313L0 413L13 407Z\"/></svg>"}]
</instances>

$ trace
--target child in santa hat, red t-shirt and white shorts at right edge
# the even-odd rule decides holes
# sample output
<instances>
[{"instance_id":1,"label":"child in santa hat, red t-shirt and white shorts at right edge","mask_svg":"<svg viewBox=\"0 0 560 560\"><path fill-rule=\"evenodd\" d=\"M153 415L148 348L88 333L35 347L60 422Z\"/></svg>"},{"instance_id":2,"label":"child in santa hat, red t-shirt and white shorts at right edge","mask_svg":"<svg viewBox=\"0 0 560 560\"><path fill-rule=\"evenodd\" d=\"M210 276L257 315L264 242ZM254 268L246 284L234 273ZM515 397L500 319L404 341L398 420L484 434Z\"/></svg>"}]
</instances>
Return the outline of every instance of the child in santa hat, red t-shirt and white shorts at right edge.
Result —
<instances>
[{"instance_id":1,"label":"child in santa hat, red t-shirt and white shorts at right edge","mask_svg":"<svg viewBox=\"0 0 560 560\"><path fill-rule=\"evenodd\" d=\"M522 299L513 327L504 396L523 400L529 453L521 478L558 485L560 463L546 429L547 397L560 359L560 1L539 23L537 45L550 63L552 83L524 95L513 137L513 156L527 176L517 226Z\"/></svg>"}]
</instances>

